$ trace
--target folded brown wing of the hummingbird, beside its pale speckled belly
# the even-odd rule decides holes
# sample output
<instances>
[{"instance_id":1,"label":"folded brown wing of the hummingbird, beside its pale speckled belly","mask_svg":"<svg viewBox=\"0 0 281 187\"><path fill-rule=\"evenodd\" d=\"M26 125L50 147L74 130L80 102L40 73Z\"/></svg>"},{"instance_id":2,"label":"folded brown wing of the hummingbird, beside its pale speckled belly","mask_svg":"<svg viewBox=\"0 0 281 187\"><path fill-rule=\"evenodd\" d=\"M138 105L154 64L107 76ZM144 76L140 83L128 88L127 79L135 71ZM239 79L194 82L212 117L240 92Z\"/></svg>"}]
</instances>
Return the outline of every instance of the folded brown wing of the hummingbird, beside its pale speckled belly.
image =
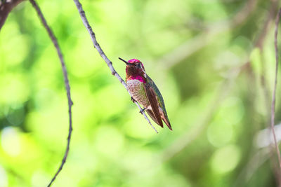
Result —
<instances>
[{"instance_id":1,"label":"folded brown wing of the hummingbird, beside its pale speckled belly","mask_svg":"<svg viewBox=\"0 0 281 187\"><path fill-rule=\"evenodd\" d=\"M159 113L159 106L158 106L158 102L157 102L157 97L156 97L156 93L155 91L148 85L145 85L145 94L146 97L148 97L148 101L150 102L150 106L152 111L148 112L148 114L150 115L150 117L155 120L155 122L160 125L161 127L163 127L163 122ZM153 114L153 115L152 115Z\"/></svg>"}]
</instances>

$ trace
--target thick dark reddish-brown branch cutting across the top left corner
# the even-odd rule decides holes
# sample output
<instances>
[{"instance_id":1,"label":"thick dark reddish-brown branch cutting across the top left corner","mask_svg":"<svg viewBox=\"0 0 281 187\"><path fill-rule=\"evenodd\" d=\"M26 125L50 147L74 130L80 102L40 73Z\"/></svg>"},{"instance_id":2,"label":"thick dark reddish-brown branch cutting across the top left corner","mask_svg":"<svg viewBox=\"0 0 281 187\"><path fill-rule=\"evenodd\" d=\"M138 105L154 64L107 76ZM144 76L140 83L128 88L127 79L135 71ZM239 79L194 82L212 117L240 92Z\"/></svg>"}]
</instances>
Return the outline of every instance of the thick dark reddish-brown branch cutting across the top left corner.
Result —
<instances>
[{"instance_id":1,"label":"thick dark reddish-brown branch cutting across the top left corner","mask_svg":"<svg viewBox=\"0 0 281 187\"><path fill-rule=\"evenodd\" d=\"M0 1L0 30L3 27L8 14L22 1L23 0Z\"/></svg>"}]
</instances>

